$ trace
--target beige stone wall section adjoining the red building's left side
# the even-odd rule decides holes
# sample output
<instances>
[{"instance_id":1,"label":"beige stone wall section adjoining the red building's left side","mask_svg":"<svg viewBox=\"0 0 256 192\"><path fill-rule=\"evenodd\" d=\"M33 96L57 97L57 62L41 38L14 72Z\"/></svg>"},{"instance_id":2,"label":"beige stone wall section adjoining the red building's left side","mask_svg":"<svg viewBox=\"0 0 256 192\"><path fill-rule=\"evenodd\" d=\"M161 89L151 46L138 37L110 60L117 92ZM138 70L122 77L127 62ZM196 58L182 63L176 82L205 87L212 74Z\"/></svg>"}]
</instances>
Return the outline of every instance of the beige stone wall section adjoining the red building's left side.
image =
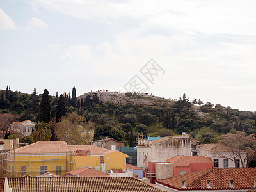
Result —
<instances>
[{"instance_id":1,"label":"beige stone wall section adjoining the red building's left side","mask_svg":"<svg viewBox=\"0 0 256 192\"><path fill-rule=\"evenodd\" d=\"M173 177L172 163L156 163L156 180Z\"/></svg>"}]
</instances>

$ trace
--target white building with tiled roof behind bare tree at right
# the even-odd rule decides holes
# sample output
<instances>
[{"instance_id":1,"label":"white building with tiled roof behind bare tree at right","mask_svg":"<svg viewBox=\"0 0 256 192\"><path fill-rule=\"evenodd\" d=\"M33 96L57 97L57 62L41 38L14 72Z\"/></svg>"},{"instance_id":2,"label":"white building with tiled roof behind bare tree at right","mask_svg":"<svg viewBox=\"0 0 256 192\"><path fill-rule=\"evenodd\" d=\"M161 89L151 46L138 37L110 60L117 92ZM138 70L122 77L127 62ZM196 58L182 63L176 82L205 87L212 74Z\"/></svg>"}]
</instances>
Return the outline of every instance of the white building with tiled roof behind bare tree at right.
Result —
<instances>
[{"instance_id":1,"label":"white building with tiled roof behind bare tree at right","mask_svg":"<svg viewBox=\"0 0 256 192\"><path fill-rule=\"evenodd\" d=\"M214 167L219 168L235 168L246 167L246 152L240 152L239 156L228 151L227 148L221 144L204 144L200 148L200 156L211 157L214 161ZM232 161L234 159L235 161Z\"/></svg>"}]
</instances>

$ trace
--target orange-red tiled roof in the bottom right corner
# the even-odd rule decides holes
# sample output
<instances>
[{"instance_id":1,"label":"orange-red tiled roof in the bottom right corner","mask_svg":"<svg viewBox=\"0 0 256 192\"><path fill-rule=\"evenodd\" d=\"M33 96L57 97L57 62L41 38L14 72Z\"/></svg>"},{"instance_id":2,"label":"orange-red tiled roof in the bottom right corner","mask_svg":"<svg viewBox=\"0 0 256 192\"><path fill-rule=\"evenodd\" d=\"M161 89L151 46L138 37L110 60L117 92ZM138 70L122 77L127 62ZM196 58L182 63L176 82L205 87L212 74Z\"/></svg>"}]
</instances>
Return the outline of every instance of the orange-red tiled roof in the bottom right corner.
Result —
<instances>
[{"instance_id":1,"label":"orange-red tiled roof in the bottom right corner","mask_svg":"<svg viewBox=\"0 0 256 192\"><path fill-rule=\"evenodd\" d=\"M159 180L159 183L162 182L181 189L182 180L185 180L186 190L205 190L207 180L211 181L211 189L230 189L230 180L234 181L234 188L232 189L255 189L253 186L254 180L256 180L256 168L211 168Z\"/></svg>"}]
</instances>

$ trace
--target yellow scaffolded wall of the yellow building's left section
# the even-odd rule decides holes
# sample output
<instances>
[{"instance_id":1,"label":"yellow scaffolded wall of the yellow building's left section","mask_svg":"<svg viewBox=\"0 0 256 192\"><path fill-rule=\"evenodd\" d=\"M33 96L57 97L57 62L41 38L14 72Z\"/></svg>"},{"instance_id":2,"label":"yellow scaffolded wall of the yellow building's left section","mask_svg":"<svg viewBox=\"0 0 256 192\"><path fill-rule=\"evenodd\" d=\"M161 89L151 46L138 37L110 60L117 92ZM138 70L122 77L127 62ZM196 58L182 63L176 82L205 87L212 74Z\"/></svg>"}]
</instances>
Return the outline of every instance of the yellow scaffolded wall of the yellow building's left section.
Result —
<instances>
[{"instance_id":1,"label":"yellow scaffolded wall of the yellow building's left section","mask_svg":"<svg viewBox=\"0 0 256 192\"><path fill-rule=\"evenodd\" d=\"M22 166L26 166L24 174L31 176L40 175L40 166L47 166L47 172L57 173L57 166L61 166L61 175L65 175L67 169L67 154L8 154L6 173L9 176L20 177ZM58 173L56 175L59 175Z\"/></svg>"}]
</instances>

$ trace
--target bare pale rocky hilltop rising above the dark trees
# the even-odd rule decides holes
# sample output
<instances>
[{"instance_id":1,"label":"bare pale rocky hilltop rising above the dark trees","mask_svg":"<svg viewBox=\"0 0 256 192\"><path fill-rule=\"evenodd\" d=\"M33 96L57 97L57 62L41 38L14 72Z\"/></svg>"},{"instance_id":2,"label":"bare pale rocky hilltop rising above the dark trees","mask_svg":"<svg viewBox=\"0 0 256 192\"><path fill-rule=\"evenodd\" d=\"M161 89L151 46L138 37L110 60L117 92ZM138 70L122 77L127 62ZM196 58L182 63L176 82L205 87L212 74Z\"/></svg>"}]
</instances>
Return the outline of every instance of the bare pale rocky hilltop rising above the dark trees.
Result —
<instances>
[{"instance_id":1,"label":"bare pale rocky hilltop rising above the dark trees","mask_svg":"<svg viewBox=\"0 0 256 192\"><path fill-rule=\"evenodd\" d=\"M99 90L97 92L88 92L84 93L83 95L79 96L79 99L83 100L86 98L86 95L90 94L91 97L93 97L93 94L97 94L98 98L100 101L103 103L112 101L115 104L126 104L126 103L131 103L131 104L145 104L145 105L154 105L154 104L165 104L170 102L172 104L175 102L175 99L165 99L163 97L157 97L154 96L150 93L136 93L135 96L127 96L125 95L124 92L108 92L106 90Z\"/></svg>"}]
</instances>

